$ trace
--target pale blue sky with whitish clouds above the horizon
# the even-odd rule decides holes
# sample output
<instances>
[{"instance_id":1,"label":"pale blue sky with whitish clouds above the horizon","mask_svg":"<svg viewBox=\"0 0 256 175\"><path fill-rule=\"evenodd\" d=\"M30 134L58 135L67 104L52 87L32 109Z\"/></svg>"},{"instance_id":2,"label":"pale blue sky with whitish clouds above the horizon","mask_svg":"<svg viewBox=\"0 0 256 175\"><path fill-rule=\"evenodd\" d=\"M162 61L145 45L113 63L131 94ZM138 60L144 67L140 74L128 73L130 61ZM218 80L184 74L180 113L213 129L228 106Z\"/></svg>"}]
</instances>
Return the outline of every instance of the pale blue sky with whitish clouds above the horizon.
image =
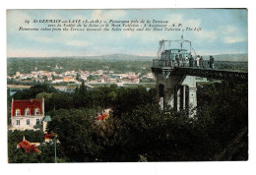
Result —
<instances>
[{"instance_id":1,"label":"pale blue sky with whitish clouds above the horizon","mask_svg":"<svg viewBox=\"0 0 256 175\"><path fill-rule=\"evenodd\" d=\"M156 56L161 39L180 39L182 31L45 31L33 20L131 20L182 24L184 39L200 55L247 53L245 9L133 9L133 10L8 10L8 57L93 56L132 54ZM26 20L30 24L25 23ZM43 26L44 25L44 26ZM186 28L201 28L186 30Z\"/></svg>"}]
</instances>

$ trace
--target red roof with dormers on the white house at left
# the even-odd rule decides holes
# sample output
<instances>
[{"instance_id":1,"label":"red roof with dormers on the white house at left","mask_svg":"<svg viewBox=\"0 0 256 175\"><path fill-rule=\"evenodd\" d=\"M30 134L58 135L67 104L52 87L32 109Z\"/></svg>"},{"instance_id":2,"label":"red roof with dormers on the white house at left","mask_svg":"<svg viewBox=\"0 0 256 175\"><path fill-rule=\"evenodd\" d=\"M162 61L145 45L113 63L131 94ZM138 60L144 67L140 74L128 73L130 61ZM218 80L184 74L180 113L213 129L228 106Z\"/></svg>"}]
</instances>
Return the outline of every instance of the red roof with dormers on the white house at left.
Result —
<instances>
[{"instance_id":1,"label":"red roof with dormers on the white house at left","mask_svg":"<svg viewBox=\"0 0 256 175\"><path fill-rule=\"evenodd\" d=\"M15 116L16 109L21 110L21 115L25 115L25 110L30 109L30 115L34 115L34 109L39 109L41 114L41 99L26 99L26 100L13 100L12 101L12 117Z\"/></svg>"}]
</instances>

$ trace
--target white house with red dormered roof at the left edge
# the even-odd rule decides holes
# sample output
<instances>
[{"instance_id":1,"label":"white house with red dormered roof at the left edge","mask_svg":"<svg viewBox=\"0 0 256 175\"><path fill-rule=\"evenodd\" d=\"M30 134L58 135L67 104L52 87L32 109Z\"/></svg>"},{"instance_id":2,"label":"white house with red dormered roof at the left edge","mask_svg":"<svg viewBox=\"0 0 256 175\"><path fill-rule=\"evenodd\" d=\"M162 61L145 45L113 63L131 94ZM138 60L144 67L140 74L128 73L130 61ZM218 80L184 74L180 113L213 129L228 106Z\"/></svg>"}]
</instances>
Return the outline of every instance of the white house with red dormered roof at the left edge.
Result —
<instances>
[{"instance_id":1,"label":"white house with red dormered roof at the left edge","mask_svg":"<svg viewBox=\"0 0 256 175\"><path fill-rule=\"evenodd\" d=\"M12 129L34 130L41 128L44 117L44 99L12 99Z\"/></svg>"}]
</instances>

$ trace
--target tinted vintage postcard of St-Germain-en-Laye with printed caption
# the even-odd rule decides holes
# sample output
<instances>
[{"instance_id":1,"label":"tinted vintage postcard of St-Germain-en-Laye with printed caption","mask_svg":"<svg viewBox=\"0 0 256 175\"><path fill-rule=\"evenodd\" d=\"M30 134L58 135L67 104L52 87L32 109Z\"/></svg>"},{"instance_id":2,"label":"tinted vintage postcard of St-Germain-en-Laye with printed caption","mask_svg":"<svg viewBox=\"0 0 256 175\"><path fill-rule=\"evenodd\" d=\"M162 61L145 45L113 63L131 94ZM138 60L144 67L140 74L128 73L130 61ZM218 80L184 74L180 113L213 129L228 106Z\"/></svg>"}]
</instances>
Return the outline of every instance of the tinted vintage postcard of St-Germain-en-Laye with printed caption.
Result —
<instances>
[{"instance_id":1,"label":"tinted vintage postcard of St-Germain-en-Laye with printed caption","mask_svg":"<svg viewBox=\"0 0 256 175\"><path fill-rule=\"evenodd\" d=\"M7 10L8 162L248 160L247 15Z\"/></svg>"}]
</instances>

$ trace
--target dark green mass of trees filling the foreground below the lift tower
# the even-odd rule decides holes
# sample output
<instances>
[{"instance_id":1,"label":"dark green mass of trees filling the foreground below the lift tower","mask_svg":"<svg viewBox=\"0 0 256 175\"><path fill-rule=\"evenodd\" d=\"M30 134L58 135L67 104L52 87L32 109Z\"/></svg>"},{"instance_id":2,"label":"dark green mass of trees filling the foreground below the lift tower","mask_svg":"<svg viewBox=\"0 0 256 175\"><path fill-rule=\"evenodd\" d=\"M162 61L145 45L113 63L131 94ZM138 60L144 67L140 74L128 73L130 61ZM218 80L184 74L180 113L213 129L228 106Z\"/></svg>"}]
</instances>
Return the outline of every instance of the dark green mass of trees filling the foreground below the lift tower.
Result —
<instances>
[{"instance_id":1,"label":"dark green mass of trees filling the foreground below the lift tower","mask_svg":"<svg viewBox=\"0 0 256 175\"><path fill-rule=\"evenodd\" d=\"M148 91L145 87L111 86L88 90L82 85L74 93L48 91L37 93L39 95L45 96L45 103L48 103L52 121L47 130L58 136L61 161L248 158L247 84L224 82L198 87L194 118L188 118L183 111L161 111L155 99L155 88ZM105 108L111 108L110 116L96 121L96 112ZM22 137L21 133L14 133L16 137L11 136L9 141ZM29 138L28 141L32 142ZM53 162L52 148L38 147L45 151L40 155L32 154L28 161ZM22 162L21 157L28 156L17 149L10 149L9 153L12 162Z\"/></svg>"}]
</instances>

